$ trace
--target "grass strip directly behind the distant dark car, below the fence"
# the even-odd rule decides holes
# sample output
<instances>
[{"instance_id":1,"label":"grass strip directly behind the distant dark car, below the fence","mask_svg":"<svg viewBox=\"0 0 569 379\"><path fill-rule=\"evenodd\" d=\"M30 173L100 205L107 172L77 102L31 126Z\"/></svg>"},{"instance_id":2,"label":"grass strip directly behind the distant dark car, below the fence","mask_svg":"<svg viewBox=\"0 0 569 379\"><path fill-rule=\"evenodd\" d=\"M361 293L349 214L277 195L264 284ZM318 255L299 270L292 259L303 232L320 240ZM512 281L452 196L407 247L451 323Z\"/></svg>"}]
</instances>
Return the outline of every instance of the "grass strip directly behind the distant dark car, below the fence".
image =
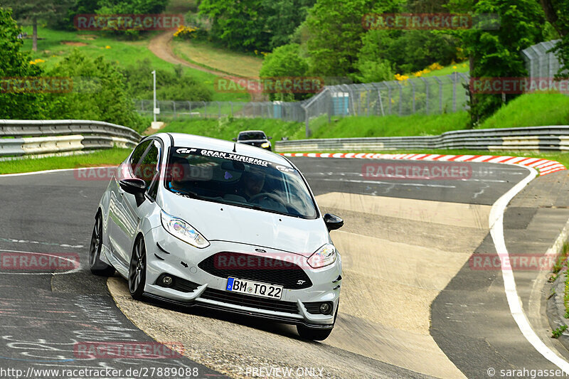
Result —
<instances>
[{"instance_id":1,"label":"grass strip directly behind the distant dark car, below the fence","mask_svg":"<svg viewBox=\"0 0 569 379\"><path fill-rule=\"evenodd\" d=\"M160 132L198 134L206 137L231 140L242 130L262 130L272 142L282 137L299 139L304 136L304 125L279 119L193 119L169 122Z\"/></svg>"}]
</instances>

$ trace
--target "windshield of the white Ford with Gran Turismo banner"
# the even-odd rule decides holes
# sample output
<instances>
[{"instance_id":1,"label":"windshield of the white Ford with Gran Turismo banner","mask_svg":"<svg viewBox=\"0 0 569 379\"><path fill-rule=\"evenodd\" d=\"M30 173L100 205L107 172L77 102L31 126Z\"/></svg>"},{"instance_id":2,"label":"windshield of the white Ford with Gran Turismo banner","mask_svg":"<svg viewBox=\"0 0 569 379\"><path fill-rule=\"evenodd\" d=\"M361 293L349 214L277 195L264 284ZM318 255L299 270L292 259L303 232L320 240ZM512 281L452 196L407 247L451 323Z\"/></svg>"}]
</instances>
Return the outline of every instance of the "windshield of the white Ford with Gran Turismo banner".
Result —
<instances>
[{"instance_id":1,"label":"windshield of the white Ford with Gran Turismo banner","mask_svg":"<svg viewBox=\"0 0 569 379\"><path fill-rule=\"evenodd\" d=\"M180 196L299 218L317 217L296 169L225 151L172 147L166 188Z\"/></svg>"}]
</instances>

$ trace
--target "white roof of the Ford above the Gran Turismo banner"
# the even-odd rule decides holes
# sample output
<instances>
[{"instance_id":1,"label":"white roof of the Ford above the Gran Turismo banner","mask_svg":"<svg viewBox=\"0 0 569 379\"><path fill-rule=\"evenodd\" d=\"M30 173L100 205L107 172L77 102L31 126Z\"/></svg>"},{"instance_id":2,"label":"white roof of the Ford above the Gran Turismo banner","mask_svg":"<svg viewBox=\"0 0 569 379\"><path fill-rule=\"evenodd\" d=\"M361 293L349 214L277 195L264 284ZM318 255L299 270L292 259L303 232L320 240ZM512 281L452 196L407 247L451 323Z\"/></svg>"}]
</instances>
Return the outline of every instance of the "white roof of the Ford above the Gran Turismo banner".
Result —
<instances>
[{"instance_id":1,"label":"white roof of the Ford above the Gran Turismo banner","mask_svg":"<svg viewBox=\"0 0 569 379\"><path fill-rule=\"evenodd\" d=\"M169 136L171 136L174 139L174 146L225 151L226 153L251 156L252 158L263 159L265 161L292 167L284 156L247 144L236 144L235 142L225 141L225 139L196 136L195 134L186 133L159 133L154 134L154 136L160 137L164 139L164 141L169 141ZM235 153L233 153L233 146L235 146Z\"/></svg>"}]
</instances>

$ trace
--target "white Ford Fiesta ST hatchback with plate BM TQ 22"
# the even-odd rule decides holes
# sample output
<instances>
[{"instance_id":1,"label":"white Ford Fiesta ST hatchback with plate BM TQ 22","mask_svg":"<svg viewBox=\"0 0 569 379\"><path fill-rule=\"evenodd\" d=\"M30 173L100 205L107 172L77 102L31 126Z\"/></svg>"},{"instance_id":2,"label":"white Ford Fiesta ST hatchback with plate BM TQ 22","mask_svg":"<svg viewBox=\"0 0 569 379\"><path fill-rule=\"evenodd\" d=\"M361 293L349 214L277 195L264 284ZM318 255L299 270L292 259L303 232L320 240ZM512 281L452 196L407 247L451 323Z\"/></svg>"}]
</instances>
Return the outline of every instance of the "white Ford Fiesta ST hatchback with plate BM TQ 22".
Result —
<instances>
[{"instance_id":1,"label":"white Ford Fiesta ST hatchback with plate BM TQ 22","mask_svg":"<svg viewBox=\"0 0 569 379\"><path fill-rule=\"evenodd\" d=\"M93 274L119 272L134 299L334 328L341 257L304 176L284 156L188 134L146 137L103 193Z\"/></svg>"}]
</instances>

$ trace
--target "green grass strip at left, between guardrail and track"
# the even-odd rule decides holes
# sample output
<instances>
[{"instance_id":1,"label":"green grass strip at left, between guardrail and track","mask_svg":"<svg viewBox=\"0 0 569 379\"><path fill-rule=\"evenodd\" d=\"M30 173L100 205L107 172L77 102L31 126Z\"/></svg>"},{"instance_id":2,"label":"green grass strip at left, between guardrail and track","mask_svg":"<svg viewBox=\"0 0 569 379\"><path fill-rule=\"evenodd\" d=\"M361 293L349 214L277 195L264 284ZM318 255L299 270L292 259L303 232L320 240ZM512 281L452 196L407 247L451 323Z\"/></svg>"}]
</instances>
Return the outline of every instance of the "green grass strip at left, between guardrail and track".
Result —
<instances>
[{"instance_id":1,"label":"green grass strip at left, between guardrail and track","mask_svg":"<svg viewBox=\"0 0 569 379\"><path fill-rule=\"evenodd\" d=\"M75 169L77 167L89 166L117 166L127 158L131 151L132 149L114 148L96 151L90 154L2 161L0 163L0 174L17 174L55 169Z\"/></svg>"}]
</instances>

